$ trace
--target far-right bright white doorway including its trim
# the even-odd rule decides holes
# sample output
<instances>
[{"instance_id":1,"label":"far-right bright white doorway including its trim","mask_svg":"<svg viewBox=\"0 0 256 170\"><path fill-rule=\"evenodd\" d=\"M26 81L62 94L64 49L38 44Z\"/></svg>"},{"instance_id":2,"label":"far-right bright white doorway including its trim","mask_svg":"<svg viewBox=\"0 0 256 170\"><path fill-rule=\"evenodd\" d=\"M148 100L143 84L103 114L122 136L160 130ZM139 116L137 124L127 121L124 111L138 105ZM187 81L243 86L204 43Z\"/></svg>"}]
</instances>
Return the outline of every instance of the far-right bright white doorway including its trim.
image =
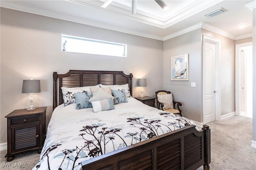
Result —
<instances>
[{"instance_id":1,"label":"far-right bright white doorway including its trim","mask_svg":"<svg viewBox=\"0 0 256 170\"><path fill-rule=\"evenodd\" d=\"M252 42L236 45L236 115L252 117Z\"/></svg>"}]
</instances>

